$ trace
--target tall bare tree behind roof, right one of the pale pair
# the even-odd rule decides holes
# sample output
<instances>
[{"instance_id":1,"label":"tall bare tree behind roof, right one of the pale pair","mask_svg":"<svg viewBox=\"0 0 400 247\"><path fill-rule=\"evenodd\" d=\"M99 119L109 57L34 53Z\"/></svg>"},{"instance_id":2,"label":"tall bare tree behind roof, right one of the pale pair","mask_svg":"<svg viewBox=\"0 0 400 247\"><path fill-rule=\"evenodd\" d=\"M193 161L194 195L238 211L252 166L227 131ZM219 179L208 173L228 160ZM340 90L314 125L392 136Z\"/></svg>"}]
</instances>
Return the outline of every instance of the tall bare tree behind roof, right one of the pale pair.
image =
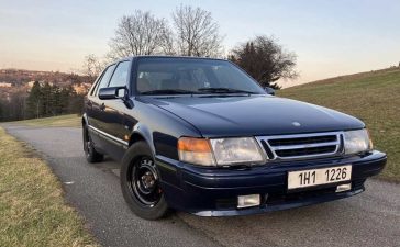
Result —
<instances>
[{"instance_id":1,"label":"tall bare tree behind roof, right one of the pale pair","mask_svg":"<svg viewBox=\"0 0 400 247\"><path fill-rule=\"evenodd\" d=\"M222 37L211 12L190 5L180 5L173 12L178 53L186 56L218 57Z\"/></svg>"}]
</instances>

